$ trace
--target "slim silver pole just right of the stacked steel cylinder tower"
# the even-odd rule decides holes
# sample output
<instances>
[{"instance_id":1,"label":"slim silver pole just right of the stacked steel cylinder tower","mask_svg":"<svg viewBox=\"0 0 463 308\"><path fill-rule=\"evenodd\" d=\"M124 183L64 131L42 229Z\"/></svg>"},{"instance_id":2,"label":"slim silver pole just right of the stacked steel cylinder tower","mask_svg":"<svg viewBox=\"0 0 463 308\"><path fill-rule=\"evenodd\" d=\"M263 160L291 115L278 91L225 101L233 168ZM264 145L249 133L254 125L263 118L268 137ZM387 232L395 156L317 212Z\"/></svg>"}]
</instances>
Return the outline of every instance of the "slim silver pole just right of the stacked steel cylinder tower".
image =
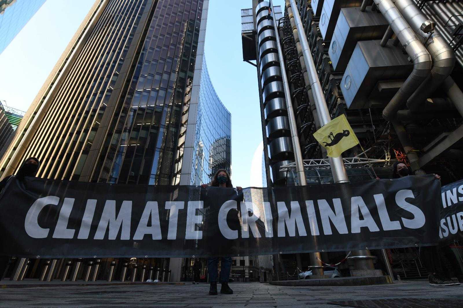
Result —
<instances>
[{"instance_id":1,"label":"slim silver pole just right of the stacked steel cylinder tower","mask_svg":"<svg viewBox=\"0 0 463 308\"><path fill-rule=\"evenodd\" d=\"M294 160L296 162L296 172L298 174L299 185L306 186L307 185L306 172L304 171L304 161L302 160L302 151L300 150L299 136L297 135L296 117L294 116L293 103L291 102L291 91L289 90L288 76L286 75L286 67L285 67L285 62L284 62L284 57L283 57L283 49L282 49L281 41L280 41L280 33L278 32L278 25L276 24L275 9L273 7L273 1L269 1L269 7L270 7L270 11L271 11L272 18L273 18L273 24L275 26L276 47L278 49L278 58L280 60L280 68L282 71L283 88L284 88L285 99L286 99L286 108L288 109L289 129L291 131L291 139L293 141L293 149L294 149ZM324 271L323 271L323 264L321 263L320 259L321 259L321 255L319 252L310 253L310 262L313 268L312 272L314 275L319 276L321 278L324 275Z\"/></svg>"}]
</instances>

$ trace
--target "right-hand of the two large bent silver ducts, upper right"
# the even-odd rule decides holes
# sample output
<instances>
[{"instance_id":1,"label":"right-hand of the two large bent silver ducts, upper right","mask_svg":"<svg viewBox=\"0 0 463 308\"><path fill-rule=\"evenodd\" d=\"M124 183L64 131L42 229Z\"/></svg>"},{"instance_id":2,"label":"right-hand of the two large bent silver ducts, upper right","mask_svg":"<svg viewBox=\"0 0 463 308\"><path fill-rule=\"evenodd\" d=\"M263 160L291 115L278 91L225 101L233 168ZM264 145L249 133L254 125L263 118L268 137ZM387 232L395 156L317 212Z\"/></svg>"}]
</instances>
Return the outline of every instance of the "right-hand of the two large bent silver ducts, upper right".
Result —
<instances>
[{"instance_id":1,"label":"right-hand of the two large bent silver ducts, upper right","mask_svg":"<svg viewBox=\"0 0 463 308\"><path fill-rule=\"evenodd\" d=\"M455 54L438 31L429 32L434 28L434 21L415 6L411 0L396 0L395 6L407 20L413 31L418 35L431 54L433 66L431 75L423 82L407 101L411 111L419 111L420 105L434 92L450 75L455 66Z\"/></svg>"}]
</instances>

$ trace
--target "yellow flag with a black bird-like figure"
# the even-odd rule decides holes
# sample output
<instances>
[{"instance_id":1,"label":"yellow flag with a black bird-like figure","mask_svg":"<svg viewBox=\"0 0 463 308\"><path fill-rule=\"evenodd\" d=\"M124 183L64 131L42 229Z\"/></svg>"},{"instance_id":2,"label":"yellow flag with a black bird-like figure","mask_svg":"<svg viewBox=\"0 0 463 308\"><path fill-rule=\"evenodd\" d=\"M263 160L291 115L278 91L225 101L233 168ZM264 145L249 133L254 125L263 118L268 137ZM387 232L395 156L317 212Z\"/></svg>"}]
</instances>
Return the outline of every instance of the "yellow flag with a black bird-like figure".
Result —
<instances>
[{"instance_id":1,"label":"yellow flag with a black bird-like figure","mask_svg":"<svg viewBox=\"0 0 463 308\"><path fill-rule=\"evenodd\" d=\"M326 149L330 157L338 157L345 150L359 143L344 114L321 127L313 136Z\"/></svg>"}]
</instances>

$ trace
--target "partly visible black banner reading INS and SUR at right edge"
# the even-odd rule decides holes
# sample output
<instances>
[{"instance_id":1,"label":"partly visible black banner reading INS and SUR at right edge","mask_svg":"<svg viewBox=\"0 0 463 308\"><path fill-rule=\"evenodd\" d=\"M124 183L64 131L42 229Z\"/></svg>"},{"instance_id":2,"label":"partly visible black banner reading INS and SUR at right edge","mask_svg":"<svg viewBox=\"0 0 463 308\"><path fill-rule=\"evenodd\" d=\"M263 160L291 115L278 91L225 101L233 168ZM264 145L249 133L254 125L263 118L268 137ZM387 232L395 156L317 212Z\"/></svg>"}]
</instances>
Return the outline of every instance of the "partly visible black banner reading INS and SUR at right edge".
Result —
<instances>
[{"instance_id":1,"label":"partly visible black banner reading INS and SUR at right edge","mask_svg":"<svg viewBox=\"0 0 463 308\"><path fill-rule=\"evenodd\" d=\"M463 180L442 187L439 244L463 240Z\"/></svg>"}]
</instances>

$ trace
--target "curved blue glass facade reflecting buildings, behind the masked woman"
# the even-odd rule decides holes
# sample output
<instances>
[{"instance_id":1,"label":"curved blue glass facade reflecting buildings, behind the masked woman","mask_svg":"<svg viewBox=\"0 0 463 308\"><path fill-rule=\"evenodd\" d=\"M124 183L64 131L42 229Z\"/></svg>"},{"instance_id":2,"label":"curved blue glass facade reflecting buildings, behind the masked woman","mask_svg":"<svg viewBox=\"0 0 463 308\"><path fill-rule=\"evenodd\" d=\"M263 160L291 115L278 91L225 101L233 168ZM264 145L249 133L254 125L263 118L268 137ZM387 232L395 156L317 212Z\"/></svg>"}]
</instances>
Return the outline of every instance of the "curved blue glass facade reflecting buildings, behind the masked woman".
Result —
<instances>
[{"instance_id":1,"label":"curved blue glass facade reflecting buildings, behind the masked woman","mask_svg":"<svg viewBox=\"0 0 463 308\"><path fill-rule=\"evenodd\" d=\"M203 59L191 185L206 184L219 169L231 172L232 116L214 90Z\"/></svg>"}]
</instances>

